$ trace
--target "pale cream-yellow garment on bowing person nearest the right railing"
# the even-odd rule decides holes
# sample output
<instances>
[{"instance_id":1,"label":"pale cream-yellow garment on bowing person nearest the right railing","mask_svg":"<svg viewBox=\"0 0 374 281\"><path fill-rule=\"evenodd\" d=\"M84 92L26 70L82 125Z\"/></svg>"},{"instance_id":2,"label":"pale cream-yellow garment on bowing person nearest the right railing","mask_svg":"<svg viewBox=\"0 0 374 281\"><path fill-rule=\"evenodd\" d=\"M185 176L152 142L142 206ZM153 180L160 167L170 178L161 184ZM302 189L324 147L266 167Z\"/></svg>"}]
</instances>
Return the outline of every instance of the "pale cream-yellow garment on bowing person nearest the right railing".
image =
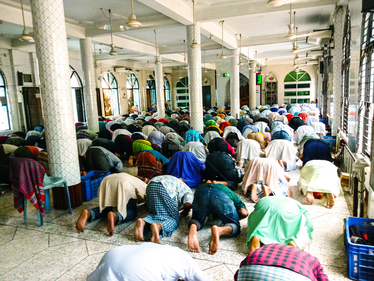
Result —
<instances>
[{"instance_id":1,"label":"pale cream-yellow garment on bowing person nearest the right railing","mask_svg":"<svg viewBox=\"0 0 374 281\"><path fill-rule=\"evenodd\" d=\"M337 167L326 160L310 160L301 169L298 185L306 195L307 191L332 193L338 196L341 191Z\"/></svg>"}]
</instances>

